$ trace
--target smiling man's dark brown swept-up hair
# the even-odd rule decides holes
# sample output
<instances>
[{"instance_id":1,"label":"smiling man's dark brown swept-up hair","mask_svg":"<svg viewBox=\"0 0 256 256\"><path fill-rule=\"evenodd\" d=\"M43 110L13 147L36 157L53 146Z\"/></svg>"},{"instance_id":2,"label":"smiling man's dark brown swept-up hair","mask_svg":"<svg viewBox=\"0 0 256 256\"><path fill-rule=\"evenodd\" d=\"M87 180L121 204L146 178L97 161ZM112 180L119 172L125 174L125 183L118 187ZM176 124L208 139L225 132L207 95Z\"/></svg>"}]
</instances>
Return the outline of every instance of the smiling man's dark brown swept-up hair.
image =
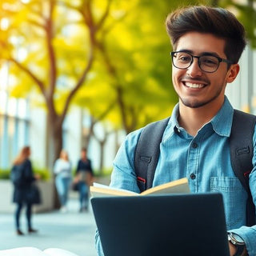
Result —
<instances>
[{"instance_id":1,"label":"smiling man's dark brown swept-up hair","mask_svg":"<svg viewBox=\"0 0 256 256\"><path fill-rule=\"evenodd\" d=\"M175 10L166 18L166 30L171 43L187 32L214 34L226 41L224 53L233 63L238 63L246 46L245 29L230 11L210 6L189 6Z\"/></svg>"}]
</instances>

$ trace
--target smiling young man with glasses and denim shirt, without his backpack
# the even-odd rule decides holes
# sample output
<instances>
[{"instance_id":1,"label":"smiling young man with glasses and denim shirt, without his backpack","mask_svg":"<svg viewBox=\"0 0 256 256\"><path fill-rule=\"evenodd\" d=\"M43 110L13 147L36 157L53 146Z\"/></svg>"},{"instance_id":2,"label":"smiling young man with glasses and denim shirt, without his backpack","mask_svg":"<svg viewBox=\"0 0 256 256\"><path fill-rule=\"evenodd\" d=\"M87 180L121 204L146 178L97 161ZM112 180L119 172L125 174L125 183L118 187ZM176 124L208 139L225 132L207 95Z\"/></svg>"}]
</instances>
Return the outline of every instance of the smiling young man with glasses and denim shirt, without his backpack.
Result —
<instances>
[{"instance_id":1,"label":"smiling young man with glasses and denim shirt, without his backpack","mask_svg":"<svg viewBox=\"0 0 256 256\"><path fill-rule=\"evenodd\" d=\"M227 10L193 6L166 19L171 53L174 107L160 144L153 186L189 179L192 193L220 192L227 230L240 242L230 242L230 255L256 255L256 226L246 225L246 190L230 162L230 130L234 110L225 96L226 84L238 75L238 60L246 46L245 31ZM110 186L139 192L134 173L134 149L142 130L129 134L114 160ZM255 145L254 133L254 145ZM250 190L256 203L255 152ZM214 241L213 241L214 242ZM96 234L98 254L102 248Z\"/></svg>"}]
</instances>

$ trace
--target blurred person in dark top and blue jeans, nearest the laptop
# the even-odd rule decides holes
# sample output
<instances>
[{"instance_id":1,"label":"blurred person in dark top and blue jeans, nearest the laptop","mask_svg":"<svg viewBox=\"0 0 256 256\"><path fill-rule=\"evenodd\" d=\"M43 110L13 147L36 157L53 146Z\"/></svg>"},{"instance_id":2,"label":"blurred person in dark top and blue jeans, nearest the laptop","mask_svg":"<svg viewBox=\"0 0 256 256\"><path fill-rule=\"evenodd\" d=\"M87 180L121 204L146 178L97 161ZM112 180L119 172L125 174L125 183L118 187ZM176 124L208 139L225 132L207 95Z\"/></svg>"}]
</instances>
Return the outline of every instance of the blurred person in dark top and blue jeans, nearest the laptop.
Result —
<instances>
[{"instance_id":1,"label":"blurred person in dark top and blue jeans, nearest the laptop","mask_svg":"<svg viewBox=\"0 0 256 256\"><path fill-rule=\"evenodd\" d=\"M78 182L80 212L83 210L88 211L89 186L92 183L93 177L94 172L91 166L91 161L87 158L87 150L86 148L82 148L81 158L78 161L75 176L75 181Z\"/></svg>"}]
</instances>

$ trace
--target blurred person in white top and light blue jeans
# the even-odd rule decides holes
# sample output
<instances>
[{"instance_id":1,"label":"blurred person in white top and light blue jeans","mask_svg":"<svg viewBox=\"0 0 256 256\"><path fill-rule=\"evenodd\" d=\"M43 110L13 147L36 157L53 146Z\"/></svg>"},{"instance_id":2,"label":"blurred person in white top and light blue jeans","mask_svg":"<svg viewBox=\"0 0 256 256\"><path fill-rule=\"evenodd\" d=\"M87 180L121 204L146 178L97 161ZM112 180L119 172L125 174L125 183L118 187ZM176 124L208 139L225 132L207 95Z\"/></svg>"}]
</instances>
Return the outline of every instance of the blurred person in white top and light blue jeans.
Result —
<instances>
[{"instance_id":1,"label":"blurred person in white top and light blue jeans","mask_svg":"<svg viewBox=\"0 0 256 256\"><path fill-rule=\"evenodd\" d=\"M58 198L61 204L60 210L65 213L67 211L67 201L68 194L70 190L70 182L72 178L71 162L69 160L69 155L66 150L62 150L59 158L54 163L54 174L55 186L58 193Z\"/></svg>"}]
</instances>

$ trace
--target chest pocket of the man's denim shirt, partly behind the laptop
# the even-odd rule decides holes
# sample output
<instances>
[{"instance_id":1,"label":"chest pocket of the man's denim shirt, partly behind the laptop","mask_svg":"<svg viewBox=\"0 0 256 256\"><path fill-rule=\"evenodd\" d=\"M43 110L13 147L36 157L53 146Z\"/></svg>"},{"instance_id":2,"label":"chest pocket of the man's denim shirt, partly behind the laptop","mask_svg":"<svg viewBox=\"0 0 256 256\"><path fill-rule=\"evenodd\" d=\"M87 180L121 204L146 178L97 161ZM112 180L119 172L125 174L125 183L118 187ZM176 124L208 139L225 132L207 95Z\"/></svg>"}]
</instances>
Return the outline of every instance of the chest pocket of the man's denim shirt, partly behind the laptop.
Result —
<instances>
[{"instance_id":1,"label":"chest pocket of the man's denim shirt, partly behind the laptop","mask_svg":"<svg viewBox=\"0 0 256 256\"><path fill-rule=\"evenodd\" d=\"M228 230L245 224L247 194L238 178L211 177L210 191L223 196Z\"/></svg>"}]
</instances>

